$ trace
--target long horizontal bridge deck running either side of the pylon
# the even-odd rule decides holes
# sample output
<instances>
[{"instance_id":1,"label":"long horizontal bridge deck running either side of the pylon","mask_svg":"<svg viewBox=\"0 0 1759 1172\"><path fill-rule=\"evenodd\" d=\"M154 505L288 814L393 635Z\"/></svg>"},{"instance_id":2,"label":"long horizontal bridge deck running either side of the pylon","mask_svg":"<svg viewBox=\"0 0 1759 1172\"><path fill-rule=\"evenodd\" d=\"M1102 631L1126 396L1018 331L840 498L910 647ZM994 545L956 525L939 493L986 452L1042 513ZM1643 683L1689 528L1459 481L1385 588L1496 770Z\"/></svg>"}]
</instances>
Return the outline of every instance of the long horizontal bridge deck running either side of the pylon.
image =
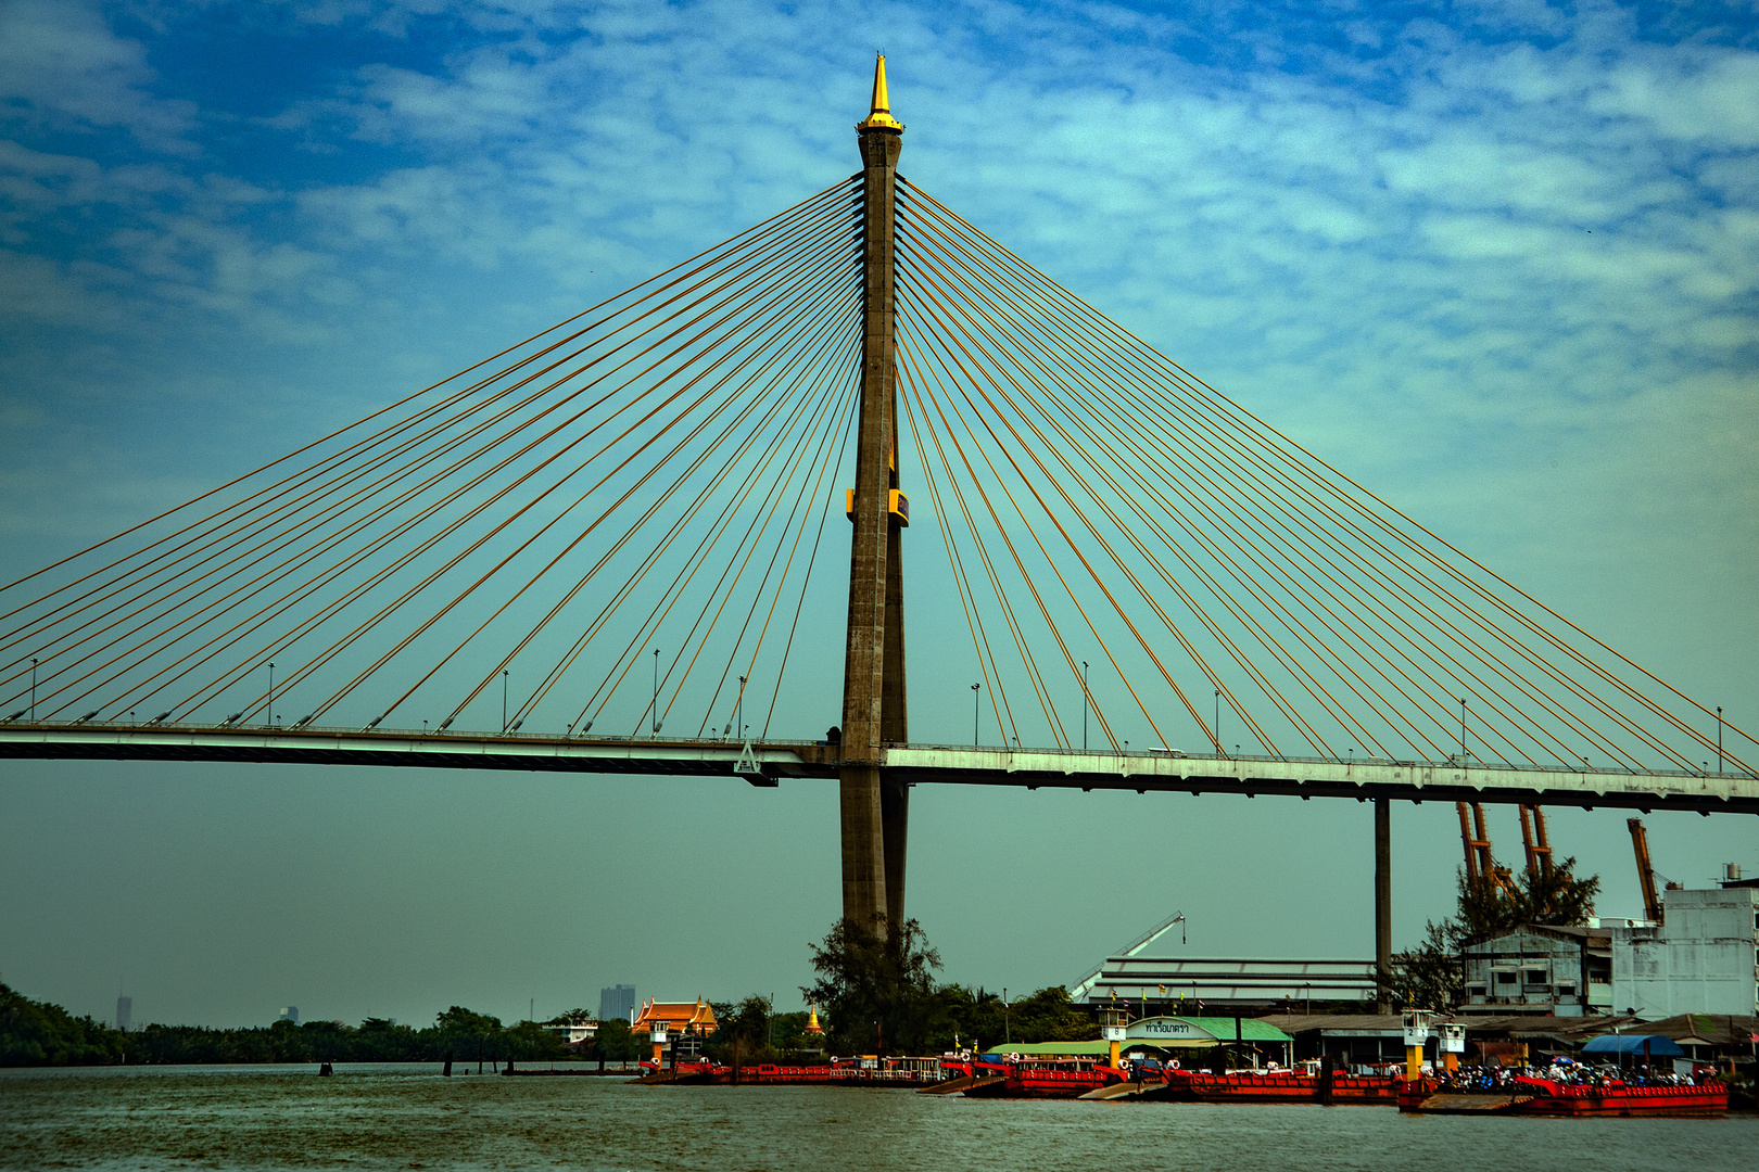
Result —
<instances>
[{"instance_id":1,"label":"long horizontal bridge deck running either side of the pylon","mask_svg":"<svg viewBox=\"0 0 1759 1172\"><path fill-rule=\"evenodd\" d=\"M584 738L480 733L250 729L216 726L0 724L0 757L259 761L308 764L834 778L836 745L765 740ZM753 768L755 766L755 768ZM1289 794L1500 801L1701 814L1759 814L1759 778L1733 773L1624 773L1453 761L1296 761L1168 752L1078 752L894 745L885 770L911 784L1129 789L1136 792Z\"/></svg>"}]
</instances>

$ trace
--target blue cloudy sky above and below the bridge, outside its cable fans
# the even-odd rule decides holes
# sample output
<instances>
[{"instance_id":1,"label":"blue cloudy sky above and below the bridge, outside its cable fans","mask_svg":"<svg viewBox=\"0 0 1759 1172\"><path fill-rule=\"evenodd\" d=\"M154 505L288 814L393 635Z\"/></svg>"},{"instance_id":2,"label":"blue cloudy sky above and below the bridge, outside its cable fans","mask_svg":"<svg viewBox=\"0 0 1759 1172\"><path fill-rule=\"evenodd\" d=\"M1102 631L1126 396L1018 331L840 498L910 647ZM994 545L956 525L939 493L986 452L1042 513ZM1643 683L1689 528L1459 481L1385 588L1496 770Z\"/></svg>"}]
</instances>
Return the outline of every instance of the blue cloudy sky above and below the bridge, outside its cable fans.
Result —
<instances>
[{"instance_id":1,"label":"blue cloudy sky above and below the bridge, outside its cable fans","mask_svg":"<svg viewBox=\"0 0 1759 1172\"><path fill-rule=\"evenodd\" d=\"M188 499L850 174L883 49L915 183L1752 722L1755 37L1738 4L0 0L0 569ZM118 977L139 1014L192 1021L290 1000L514 1016L631 979L786 991L834 915L825 792L4 777L4 821L40 835L0 882L42 900L0 912L0 975L95 1012ZM749 891L635 884L654 801L686 857L753 861ZM1073 980L1177 907L1193 951L1365 952L1367 821L1319 805L1258 801L1247 821L1244 801L1170 799L1143 819L1115 799L938 792L916 807L911 910L950 975L1010 988ZM1411 937L1446 910L1451 810L1400 819ZM1560 821L1558 845L1608 879L1602 910L1634 910L1622 815ZM378 833L357 840L364 826ZM1676 879L1759 865L1748 822L1657 815L1653 833ZM950 859L983 836L1071 859L1112 843L1157 879L1094 912L1092 872L1069 861L973 908ZM521 849L540 861L508 879ZM1314 866L1335 882L1303 884ZM1263 882L1228 882L1235 868ZM682 942L656 922L698 926ZM438 979L464 938L515 954L519 975L459 959Z\"/></svg>"}]
</instances>

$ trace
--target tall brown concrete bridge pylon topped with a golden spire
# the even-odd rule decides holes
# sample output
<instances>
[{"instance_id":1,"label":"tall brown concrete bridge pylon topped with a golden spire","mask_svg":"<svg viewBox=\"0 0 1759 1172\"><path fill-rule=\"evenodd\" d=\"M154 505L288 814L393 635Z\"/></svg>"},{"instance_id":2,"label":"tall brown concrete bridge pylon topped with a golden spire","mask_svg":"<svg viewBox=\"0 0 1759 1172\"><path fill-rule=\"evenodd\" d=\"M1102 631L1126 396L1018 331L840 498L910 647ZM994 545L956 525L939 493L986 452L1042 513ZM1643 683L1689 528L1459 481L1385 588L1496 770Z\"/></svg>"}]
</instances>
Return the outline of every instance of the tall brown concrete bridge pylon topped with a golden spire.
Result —
<instances>
[{"instance_id":1,"label":"tall brown concrete bridge pylon topped with a golden spire","mask_svg":"<svg viewBox=\"0 0 1759 1172\"><path fill-rule=\"evenodd\" d=\"M843 676L843 915L862 926L904 915L909 787L888 784L883 745L909 740L904 717L908 504L897 496L897 281L894 213L904 127L892 118L885 56L862 151L862 399L850 518L850 626Z\"/></svg>"}]
</instances>

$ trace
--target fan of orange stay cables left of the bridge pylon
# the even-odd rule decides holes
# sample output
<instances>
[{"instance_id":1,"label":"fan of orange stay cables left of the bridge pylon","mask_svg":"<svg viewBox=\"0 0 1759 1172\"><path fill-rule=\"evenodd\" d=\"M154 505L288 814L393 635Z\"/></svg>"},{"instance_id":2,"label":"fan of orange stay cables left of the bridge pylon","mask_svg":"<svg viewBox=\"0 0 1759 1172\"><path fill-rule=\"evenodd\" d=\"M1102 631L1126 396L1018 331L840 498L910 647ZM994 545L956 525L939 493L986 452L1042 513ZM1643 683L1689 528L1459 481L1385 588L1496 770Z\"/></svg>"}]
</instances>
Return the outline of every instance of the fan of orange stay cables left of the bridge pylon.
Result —
<instances>
[{"instance_id":1,"label":"fan of orange stay cables left of the bridge pylon","mask_svg":"<svg viewBox=\"0 0 1759 1172\"><path fill-rule=\"evenodd\" d=\"M679 717L688 736L769 720L799 627L823 619L807 587L857 397L858 200L843 181L9 583L4 712L624 734ZM762 708L742 703L756 680Z\"/></svg>"}]
</instances>

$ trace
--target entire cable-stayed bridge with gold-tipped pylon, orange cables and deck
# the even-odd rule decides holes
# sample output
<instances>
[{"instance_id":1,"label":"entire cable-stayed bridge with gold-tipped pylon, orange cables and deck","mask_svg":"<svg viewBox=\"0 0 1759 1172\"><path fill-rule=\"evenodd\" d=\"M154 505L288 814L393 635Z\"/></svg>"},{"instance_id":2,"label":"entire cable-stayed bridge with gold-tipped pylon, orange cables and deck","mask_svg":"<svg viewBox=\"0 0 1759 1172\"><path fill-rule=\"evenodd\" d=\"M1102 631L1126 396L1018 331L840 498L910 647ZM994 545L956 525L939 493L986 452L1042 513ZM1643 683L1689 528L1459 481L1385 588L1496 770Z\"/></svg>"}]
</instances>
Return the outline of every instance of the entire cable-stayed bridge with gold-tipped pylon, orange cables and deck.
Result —
<instances>
[{"instance_id":1,"label":"entire cable-stayed bridge with gold-tipped pylon, orange cables and deck","mask_svg":"<svg viewBox=\"0 0 1759 1172\"><path fill-rule=\"evenodd\" d=\"M1390 799L1759 812L1720 710L904 179L883 61L857 132L850 179L0 589L0 754L837 778L862 919L929 782L1354 796L1383 859ZM1384 861L1379 903L1386 956Z\"/></svg>"}]
</instances>

